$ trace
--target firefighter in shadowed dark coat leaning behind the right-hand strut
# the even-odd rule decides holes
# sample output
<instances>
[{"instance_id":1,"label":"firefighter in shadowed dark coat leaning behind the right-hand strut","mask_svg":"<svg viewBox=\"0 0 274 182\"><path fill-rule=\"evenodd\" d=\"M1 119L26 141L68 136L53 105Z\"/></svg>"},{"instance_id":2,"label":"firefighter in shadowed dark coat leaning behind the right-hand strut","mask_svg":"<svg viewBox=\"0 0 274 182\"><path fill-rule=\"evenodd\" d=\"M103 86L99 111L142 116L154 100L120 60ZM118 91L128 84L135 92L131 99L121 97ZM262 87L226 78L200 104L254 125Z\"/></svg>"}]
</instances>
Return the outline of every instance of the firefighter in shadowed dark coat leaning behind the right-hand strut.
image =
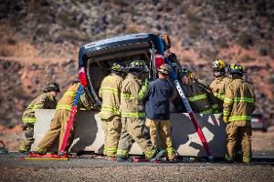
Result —
<instances>
[{"instance_id":1,"label":"firefighter in shadowed dark coat leaning behind the right-hand strut","mask_svg":"<svg viewBox=\"0 0 274 182\"><path fill-rule=\"evenodd\" d=\"M186 68L182 70L181 81L184 94L193 111L201 114L212 114L216 100L207 84L202 80L195 79L193 73Z\"/></svg>"}]
</instances>

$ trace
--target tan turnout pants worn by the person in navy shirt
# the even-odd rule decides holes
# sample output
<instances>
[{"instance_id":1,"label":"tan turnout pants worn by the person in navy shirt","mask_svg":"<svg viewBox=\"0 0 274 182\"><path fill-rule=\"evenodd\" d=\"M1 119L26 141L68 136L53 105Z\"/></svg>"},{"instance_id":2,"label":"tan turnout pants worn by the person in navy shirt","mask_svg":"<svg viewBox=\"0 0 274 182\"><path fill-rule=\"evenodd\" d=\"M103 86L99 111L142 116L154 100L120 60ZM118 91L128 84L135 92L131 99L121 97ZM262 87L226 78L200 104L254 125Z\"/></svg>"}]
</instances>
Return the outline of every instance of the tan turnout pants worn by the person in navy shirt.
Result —
<instances>
[{"instance_id":1,"label":"tan turnout pants worn by the person in navy shirt","mask_svg":"<svg viewBox=\"0 0 274 182\"><path fill-rule=\"evenodd\" d=\"M158 132L161 147L165 149L167 158L173 160L175 157L175 150L172 142L170 121L147 118L146 125L150 128L150 136L153 145L156 146L156 135Z\"/></svg>"}]
</instances>

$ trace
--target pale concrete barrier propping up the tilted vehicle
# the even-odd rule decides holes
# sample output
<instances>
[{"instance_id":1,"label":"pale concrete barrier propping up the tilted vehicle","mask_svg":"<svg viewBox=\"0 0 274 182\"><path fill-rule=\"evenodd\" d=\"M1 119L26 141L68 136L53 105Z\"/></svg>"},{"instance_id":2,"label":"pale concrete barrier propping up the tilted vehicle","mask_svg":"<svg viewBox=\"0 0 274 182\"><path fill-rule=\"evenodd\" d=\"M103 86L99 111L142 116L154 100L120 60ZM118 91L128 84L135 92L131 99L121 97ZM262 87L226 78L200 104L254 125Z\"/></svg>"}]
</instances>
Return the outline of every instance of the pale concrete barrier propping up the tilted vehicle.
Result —
<instances>
[{"instance_id":1,"label":"pale concrete barrier propping up the tilted vehicle","mask_svg":"<svg viewBox=\"0 0 274 182\"><path fill-rule=\"evenodd\" d=\"M35 150L38 142L46 134L51 118L55 110L41 109L36 111L37 123L34 129L35 143L32 150ZM221 121L220 115L196 114L198 123L202 127L205 138L212 149L215 157L224 157L226 153L226 132L225 124ZM76 131L71 146L72 152L94 151L102 154L104 135L101 130L101 122L97 112L80 111L76 118ZM181 156L206 157L205 149L195 132L187 114L174 113L171 115L173 126L174 148ZM58 142L58 141L57 141ZM58 150L56 144L52 151ZM142 150L135 143L130 154L140 155Z\"/></svg>"}]
</instances>

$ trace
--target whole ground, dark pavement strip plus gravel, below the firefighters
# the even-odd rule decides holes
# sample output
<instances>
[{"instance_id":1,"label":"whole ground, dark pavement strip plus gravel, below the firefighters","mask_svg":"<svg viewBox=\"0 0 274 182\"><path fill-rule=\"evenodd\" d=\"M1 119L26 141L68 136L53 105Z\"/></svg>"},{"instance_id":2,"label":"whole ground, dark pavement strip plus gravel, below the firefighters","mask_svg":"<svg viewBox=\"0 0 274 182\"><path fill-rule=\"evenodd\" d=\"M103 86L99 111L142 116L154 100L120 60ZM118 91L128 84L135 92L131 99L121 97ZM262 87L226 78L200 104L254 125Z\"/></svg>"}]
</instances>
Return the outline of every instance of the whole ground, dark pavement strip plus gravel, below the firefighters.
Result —
<instances>
[{"instance_id":1,"label":"whole ground, dark pavement strip plus gravel, below the firefighters","mask_svg":"<svg viewBox=\"0 0 274 182\"><path fill-rule=\"evenodd\" d=\"M0 156L0 181L274 181L273 164L26 161L11 155Z\"/></svg>"}]
</instances>

